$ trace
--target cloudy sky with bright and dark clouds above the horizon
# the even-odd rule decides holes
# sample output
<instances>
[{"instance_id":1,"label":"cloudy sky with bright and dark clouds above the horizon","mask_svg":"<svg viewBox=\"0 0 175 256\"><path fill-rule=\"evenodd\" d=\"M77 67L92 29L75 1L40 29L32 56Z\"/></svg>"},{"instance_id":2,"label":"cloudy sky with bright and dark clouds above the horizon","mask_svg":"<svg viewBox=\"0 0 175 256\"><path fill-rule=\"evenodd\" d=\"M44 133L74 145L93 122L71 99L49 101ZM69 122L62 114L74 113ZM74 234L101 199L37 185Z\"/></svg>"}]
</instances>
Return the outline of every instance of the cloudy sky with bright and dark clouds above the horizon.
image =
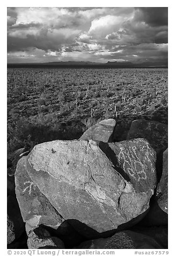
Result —
<instances>
[{"instance_id":1,"label":"cloudy sky with bright and dark clouds above the horizon","mask_svg":"<svg viewBox=\"0 0 175 256\"><path fill-rule=\"evenodd\" d=\"M8 8L8 63L167 61L167 8Z\"/></svg>"}]
</instances>

